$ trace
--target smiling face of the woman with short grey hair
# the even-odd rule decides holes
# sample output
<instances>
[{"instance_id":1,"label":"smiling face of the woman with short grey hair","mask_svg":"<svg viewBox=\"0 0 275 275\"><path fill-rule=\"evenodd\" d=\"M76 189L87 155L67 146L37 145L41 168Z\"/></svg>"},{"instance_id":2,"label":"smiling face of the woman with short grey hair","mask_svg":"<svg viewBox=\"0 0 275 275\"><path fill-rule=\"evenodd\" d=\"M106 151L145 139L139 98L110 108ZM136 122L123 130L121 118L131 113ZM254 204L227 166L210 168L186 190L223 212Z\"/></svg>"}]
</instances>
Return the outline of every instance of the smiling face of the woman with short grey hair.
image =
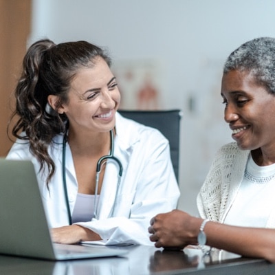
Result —
<instances>
[{"instance_id":1,"label":"smiling face of the woman with short grey hair","mask_svg":"<svg viewBox=\"0 0 275 275\"><path fill-rule=\"evenodd\" d=\"M274 150L275 96L256 85L252 74L235 70L223 75L221 96L225 122L239 148Z\"/></svg>"}]
</instances>

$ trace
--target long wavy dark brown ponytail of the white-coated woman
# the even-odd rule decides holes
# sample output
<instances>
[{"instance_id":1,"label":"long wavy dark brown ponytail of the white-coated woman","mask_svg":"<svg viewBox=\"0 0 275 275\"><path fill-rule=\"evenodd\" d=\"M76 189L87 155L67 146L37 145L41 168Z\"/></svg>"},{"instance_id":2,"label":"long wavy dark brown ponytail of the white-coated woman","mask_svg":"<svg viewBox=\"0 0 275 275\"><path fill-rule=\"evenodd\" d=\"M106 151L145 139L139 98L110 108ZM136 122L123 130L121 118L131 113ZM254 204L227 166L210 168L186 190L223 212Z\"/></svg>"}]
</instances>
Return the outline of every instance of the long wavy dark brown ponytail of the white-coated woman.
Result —
<instances>
[{"instance_id":1,"label":"long wavy dark brown ponytail of the white-coated woman","mask_svg":"<svg viewBox=\"0 0 275 275\"><path fill-rule=\"evenodd\" d=\"M30 142L30 151L39 160L41 169L45 168L45 163L47 164L49 170L47 182L55 170L54 162L47 152L48 144L52 141L52 135L49 133L53 129L48 123L52 120L52 116L45 112L48 95L41 92L39 75L47 50L54 46L55 44L47 39L38 41L25 54L23 71L15 89L16 109L12 113L12 118L19 116L19 120L12 128L12 135ZM60 132L61 124L59 123L55 128L58 128L56 130ZM25 135L21 135L21 132L25 132Z\"/></svg>"}]
</instances>

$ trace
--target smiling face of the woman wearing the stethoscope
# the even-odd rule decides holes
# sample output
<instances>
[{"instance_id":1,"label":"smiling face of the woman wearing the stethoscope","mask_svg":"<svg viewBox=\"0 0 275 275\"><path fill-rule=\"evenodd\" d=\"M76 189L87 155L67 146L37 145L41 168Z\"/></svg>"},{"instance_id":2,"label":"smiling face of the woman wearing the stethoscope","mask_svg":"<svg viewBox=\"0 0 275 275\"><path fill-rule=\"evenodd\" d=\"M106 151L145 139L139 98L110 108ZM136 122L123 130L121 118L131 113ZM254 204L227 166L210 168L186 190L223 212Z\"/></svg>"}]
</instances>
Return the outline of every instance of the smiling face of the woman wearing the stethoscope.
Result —
<instances>
[{"instance_id":1,"label":"smiling face of the woman wearing the stethoscope","mask_svg":"<svg viewBox=\"0 0 275 275\"><path fill-rule=\"evenodd\" d=\"M67 104L58 109L67 115L69 127L76 133L107 132L115 126L120 91L107 63L101 57L94 63L78 70L71 82Z\"/></svg>"}]
</instances>

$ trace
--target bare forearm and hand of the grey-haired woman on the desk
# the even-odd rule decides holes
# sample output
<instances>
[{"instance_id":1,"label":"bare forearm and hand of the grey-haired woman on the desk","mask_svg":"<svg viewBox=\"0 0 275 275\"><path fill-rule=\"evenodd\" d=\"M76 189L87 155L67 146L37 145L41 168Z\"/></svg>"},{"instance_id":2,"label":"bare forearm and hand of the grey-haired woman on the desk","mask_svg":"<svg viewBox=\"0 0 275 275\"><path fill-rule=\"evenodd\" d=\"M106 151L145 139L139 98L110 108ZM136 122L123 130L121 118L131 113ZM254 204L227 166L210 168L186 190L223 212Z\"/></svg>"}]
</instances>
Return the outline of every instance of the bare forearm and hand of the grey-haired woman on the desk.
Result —
<instances>
[{"instance_id":1,"label":"bare forearm and hand of the grey-haired woman on the desk","mask_svg":"<svg viewBox=\"0 0 275 275\"><path fill-rule=\"evenodd\" d=\"M183 249L187 245L197 245L202 221L181 210L157 214L148 228L150 240L157 248ZM206 245L210 247L275 263L274 229L243 228L208 221L203 231Z\"/></svg>"}]
</instances>

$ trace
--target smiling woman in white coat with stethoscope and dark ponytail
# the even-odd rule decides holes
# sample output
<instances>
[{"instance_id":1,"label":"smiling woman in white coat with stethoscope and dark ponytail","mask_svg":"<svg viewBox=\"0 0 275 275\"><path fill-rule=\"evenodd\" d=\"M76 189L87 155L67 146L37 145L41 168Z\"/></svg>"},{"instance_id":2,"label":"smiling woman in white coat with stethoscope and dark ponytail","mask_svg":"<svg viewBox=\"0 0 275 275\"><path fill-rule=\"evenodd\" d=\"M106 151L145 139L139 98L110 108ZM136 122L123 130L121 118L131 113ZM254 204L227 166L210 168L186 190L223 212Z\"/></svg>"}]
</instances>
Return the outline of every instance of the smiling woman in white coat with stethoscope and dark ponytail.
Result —
<instances>
[{"instance_id":1,"label":"smiling woman in white coat with stethoscope and dark ponytail","mask_svg":"<svg viewBox=\"0 0 275 275\"><path fill-rule=\"evenodd\" d=\"M8 159L32 159L57 243L151 245L148 223L177 206L168 140L123 118L111 60L85 41L32 44L17 85L17 141ZM114 141L111 142L111 135ZM107 158L100 166L98 159Z\"/></svg>"}]
</instances>

